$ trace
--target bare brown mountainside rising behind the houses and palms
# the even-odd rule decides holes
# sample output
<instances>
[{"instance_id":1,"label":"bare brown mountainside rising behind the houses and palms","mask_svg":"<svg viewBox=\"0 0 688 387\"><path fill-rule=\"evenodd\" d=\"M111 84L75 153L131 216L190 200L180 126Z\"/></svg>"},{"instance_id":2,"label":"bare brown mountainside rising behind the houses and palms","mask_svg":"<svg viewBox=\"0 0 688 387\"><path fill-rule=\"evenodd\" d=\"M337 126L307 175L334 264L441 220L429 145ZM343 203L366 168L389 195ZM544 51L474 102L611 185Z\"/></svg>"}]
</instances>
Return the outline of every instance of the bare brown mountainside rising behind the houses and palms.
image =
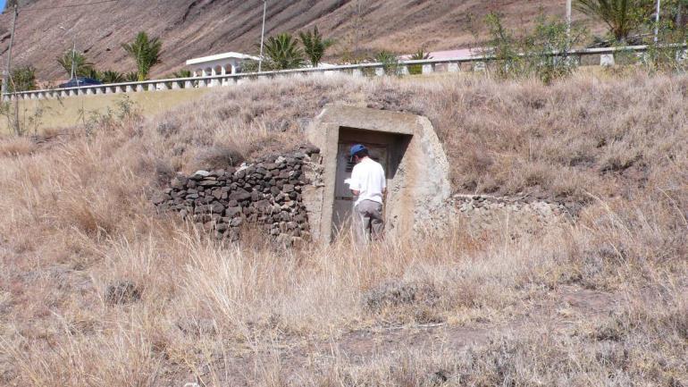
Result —
<instances>
[{"instance_id":1,"label":"bare brown mountainside rising behind the houses and palms","mask_svg":"<svg viewBox=\"0 0 688 387\"><path fill-rule=\"evenodd\" d=\"M122 51L138 30L164 41L163 63L153 76L180 68L186 59L226 51L255 51L260 39L260 0L128 0L88 2L35 0L22 8L14 58L33 64L45 80L63 78L55 63L76 39L80 50L101 69L132 71ZM505 15L522 27L535 15L563 13L562 2L547 0L280 0L269 2L266 34L317 25L337 39L334 53L382 48L399 53L469 46L486 13ZM562 4L558 4L562 3ZM360 13L358 12L360 7ZM360 14L360 16L357 16ZM9 43L10 15L0 15L0 54ZM358 45L357 45L358 41Z\"/></svg>"}]
</instances>

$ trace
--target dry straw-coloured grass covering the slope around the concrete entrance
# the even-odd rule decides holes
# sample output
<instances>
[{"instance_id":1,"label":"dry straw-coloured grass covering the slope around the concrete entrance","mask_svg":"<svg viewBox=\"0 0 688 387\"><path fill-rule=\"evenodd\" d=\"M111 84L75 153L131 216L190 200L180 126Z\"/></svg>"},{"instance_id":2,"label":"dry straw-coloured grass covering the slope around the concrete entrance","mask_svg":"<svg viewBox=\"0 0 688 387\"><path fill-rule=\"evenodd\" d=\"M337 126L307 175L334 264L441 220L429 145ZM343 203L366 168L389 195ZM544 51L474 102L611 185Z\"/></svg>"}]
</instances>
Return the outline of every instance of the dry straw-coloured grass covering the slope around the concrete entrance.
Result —
<instances>
[{"instance_id":1,"label":"dry straw-coloured grass covering the slope around the concrete entrance","mask_svg":"<svg viewBox=\"0 0 688 387\"><path fill-rule=\"evenodd\" d=\"M304 78L3 139L0 380L685 385L686 97L667 76ZM577 218L474 237L458 217L445 237L284 251L155 215L151 190L207 147L298 144L326 103L427 115L457 191L556 198Z\"/></svg>"}]
</instances>

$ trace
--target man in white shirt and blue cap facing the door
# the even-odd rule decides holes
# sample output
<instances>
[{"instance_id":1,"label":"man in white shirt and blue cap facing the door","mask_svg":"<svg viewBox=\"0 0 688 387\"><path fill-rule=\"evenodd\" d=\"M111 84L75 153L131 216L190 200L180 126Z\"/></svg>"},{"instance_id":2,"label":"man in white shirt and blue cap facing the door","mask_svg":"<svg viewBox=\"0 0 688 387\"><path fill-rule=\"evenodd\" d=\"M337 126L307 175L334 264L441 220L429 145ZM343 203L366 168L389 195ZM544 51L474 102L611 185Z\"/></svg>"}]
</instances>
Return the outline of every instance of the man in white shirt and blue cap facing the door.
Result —
<instances>
[{"instance_id":1,"label":"man in white shirt and blue cap facing the door","mask_svg":"<svg viewBox=\"0 0 688 387\"><path fill-rule=\"evenodd\" d=\"M356 163L348 180L348 188L357 197L352 215L354 238L358 244L382 240L382 198L387 189L384 170L381 164L370 158L368 149L361 144L351 147L349 155Z\"/></svg>"}]
</instances>

